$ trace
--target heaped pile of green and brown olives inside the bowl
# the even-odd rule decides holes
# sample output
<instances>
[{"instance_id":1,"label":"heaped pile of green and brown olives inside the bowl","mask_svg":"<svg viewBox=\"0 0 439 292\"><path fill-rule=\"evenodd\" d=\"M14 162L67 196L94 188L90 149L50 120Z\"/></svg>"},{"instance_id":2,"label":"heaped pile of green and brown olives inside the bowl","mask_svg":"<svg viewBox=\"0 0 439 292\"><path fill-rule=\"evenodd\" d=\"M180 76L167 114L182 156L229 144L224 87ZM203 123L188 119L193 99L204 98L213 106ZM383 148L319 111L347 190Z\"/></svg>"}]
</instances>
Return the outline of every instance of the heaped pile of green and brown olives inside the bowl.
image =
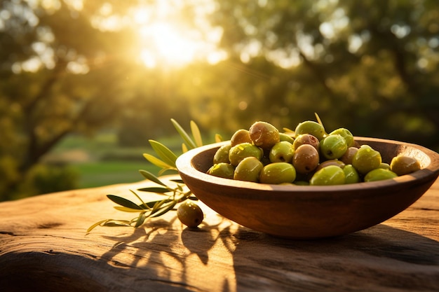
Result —
<instances>
[{"instance_id":1,"label":"heaped pile of green and brown olives inside the bowl","mask_svg":"<svg viewBox=\"0 0 439 292\"><path fill-rule=\"evenodd\" d=\"M323 125L306 120L294 132L279 132L262 121L236 131L217 150L207 173L257 183L330 186L392 179L419 169L419 161L403 155L383 162L371 146L356 146L346 128L327 134Z\"/></svg>"}]
</instances>

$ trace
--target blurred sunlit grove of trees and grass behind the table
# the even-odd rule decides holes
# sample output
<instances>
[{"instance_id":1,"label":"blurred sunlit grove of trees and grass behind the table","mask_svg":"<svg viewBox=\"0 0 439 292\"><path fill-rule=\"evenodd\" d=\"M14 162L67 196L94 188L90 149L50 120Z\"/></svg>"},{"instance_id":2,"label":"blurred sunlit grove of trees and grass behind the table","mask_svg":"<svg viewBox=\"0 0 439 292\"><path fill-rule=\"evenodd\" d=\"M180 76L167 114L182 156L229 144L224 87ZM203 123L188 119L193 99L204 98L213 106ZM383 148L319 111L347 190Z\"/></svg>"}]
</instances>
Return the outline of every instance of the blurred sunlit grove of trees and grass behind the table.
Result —
<instances>
[{"instance_id":1,"label":"blurred sunlit grove of trees and grass behind the table","mask_svg":"<svg viewBox=\"0 0 439 292\"><path fill-rule=\"evenodd\" d=\"M142 180L170 119L439 150L439 1L1 0L0 201Z\"/></svg>"}]
</instances>

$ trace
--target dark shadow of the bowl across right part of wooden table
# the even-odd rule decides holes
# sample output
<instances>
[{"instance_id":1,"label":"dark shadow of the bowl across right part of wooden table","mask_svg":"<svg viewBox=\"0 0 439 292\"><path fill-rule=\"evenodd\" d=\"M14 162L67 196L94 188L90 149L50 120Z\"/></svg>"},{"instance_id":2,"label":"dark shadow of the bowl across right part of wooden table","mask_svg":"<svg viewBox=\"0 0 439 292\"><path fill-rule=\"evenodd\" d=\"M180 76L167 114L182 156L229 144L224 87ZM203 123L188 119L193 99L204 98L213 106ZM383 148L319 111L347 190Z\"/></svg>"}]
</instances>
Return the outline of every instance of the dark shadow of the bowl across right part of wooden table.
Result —
<instances>
[{"instance_id":1,"label":"dark shadow of the bowl across right part of wooden table","mask_svg":"<svg viewBox=\"0 0 439 292\"><path fill-rule=\"evenodd\" d=\"M237 242L238 287L439 291L439 242L388 225L318 240L282 239L248 228L231 236Z\"/></svg>"}]
</instances>

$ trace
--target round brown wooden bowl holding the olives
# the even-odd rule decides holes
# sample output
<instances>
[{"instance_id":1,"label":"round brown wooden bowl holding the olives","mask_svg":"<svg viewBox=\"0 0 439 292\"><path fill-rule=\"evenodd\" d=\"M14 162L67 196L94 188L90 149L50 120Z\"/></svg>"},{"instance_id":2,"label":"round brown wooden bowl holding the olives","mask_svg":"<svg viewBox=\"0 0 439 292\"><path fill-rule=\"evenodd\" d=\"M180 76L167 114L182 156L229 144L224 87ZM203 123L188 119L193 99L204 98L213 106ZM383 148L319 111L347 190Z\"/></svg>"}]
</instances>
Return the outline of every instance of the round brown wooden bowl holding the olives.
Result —
<instances>
[{"instance_id":1,"label":"round brown wooden bowl holding the olives","mask_svg":"<svg viewBox=\"0 0 439 292\"><path fill-rule=\"evenodd\" d=\"M180 155L177 169L188 188L218 214L278 237L316 239L369 228L400 213L439 175L439 154L398 141L356 137L390 163L398 154L417 158L421 170L396 179L340 186L281 186L206 174L217 149L229 141Z\"/></svg>"}]
</instances>

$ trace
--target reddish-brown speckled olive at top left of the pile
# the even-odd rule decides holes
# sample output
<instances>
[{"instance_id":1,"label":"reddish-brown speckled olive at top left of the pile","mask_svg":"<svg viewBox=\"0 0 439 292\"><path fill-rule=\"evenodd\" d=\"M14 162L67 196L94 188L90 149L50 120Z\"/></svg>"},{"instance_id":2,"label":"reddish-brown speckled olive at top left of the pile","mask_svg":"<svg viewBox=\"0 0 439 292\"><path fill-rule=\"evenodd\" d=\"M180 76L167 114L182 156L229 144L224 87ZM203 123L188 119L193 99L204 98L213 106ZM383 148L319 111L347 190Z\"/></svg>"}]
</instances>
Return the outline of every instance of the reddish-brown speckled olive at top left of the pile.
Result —
<instances>
[{"instance_id":1,"label":"reddish-brown speckled olive at top left of the pile","mask_svg":"<svg viewBox=\"0 0 439 292\"><path fill-rule=\"evenodd\" d=\"M248 132L253 144L262 149L270 149L281 141L278 129L270 123L255 122L250 126Z\"/></svg>"}]
</instances>

